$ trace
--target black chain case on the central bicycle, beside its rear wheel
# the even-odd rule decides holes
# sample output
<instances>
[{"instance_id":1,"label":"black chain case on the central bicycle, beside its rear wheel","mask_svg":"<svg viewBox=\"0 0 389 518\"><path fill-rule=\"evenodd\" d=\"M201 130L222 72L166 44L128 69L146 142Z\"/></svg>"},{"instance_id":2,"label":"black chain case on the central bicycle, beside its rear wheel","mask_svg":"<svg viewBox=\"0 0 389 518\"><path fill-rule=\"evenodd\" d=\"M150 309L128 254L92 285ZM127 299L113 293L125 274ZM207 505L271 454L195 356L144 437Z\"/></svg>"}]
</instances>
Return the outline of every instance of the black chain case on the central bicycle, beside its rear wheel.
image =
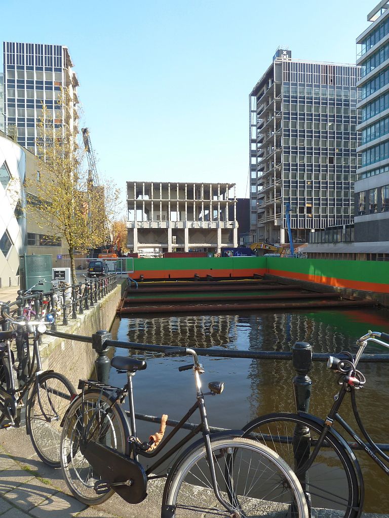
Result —
<instances>
[{"instance_id":1,"label":"black chain case on the central bicycle, beside its rear wheel","mask_svg":"<svg viewBox=\"0 0 389 518\"><path fill-rule=\"evenodd\" d=\"M104 444L89 441L82 454L93 470L111 485L112 489L128 503L142 502L147 496L147 477L143 466L130 457ZM131 481L131 485L126 482ZM123 482L123 485L116 485Z\"/></svg>"}]
</instances>

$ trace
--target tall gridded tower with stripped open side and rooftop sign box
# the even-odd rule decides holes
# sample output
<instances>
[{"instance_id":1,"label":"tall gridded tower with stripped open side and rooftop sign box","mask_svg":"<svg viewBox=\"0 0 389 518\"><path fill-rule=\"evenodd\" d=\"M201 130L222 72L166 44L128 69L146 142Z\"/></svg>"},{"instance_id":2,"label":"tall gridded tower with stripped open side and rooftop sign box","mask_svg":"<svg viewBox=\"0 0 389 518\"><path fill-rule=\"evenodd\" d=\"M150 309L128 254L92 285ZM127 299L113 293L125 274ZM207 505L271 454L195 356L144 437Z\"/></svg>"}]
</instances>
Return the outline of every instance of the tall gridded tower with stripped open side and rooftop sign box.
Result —
<instances>
[{"instance_id":1,"label":"tall gridded tower with stripped open side and rooftop sign box","mask_svg":"<svg viewBox=\"0 0 389 518\"><path fill-rule=\"evenodd\" d=\"M287 242L287 202L297 242L353 222L358 79L355 65L277 49L249 95L253 239Z\"/></svg>"}]
</instances>

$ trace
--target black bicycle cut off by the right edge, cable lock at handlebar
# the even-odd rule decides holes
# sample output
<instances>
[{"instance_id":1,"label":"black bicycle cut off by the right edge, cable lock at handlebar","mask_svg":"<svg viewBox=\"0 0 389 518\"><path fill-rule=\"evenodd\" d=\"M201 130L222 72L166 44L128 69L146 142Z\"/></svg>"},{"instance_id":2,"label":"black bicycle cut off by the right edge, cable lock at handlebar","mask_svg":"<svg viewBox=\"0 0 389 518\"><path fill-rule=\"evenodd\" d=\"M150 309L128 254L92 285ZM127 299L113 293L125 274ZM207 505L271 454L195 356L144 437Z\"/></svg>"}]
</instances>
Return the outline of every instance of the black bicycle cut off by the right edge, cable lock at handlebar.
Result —
<instances>
[{"instance_id":1,"label":"black bicycle cut off by the right edge, cable lock at handlebar","mask_svg":"<svg viewBox=\"0 0 389 518\"><path fill-rule=\"evenodd\" d=\"M389 348L389 343L379 338L389 342L386 333L369 331L357 340L355 358L345 351L342 353L348 355L348 359L329 357L327 367L339 373L341 388L325 420L305 412L271 413L243 427L245 437L255 437L282 456L289 466L293 466L312 508L338 510L345 518L358 518L362 513L365 486L358 460L349 443L334 429L336 423L389 475L389 467L378 457L388 463L389 456L368 434L355 397L355 391L363 387L366 381L356 367L368 342ZM339 414L340 406L349 393L356 423L366 442Z\"/></svg>"}]
</instances>

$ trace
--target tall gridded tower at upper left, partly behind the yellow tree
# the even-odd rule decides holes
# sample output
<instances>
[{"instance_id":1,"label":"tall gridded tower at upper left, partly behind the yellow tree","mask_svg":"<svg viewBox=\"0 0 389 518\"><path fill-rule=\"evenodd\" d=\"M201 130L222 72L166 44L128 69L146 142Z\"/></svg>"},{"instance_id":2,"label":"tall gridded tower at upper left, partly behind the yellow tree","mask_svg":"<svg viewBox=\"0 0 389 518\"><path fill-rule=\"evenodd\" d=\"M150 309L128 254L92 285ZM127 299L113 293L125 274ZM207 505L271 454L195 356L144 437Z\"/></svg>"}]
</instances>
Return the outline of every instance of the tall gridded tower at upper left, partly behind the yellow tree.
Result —
<instances>
[{"instance_id":1,"label":"tall gridded tower at upper left, partly behind the yellow tree","mask_svg":"<svg viewBox=\"0 0 389 518\"><path fill-rule=\"evenodd\" d=\"M5 132L36 154L37 128L45 105L55 127L78 133L77 87L67 47L4 41ZM65 106L58 104L62 92Z\"/></svg>"}]
</instances>

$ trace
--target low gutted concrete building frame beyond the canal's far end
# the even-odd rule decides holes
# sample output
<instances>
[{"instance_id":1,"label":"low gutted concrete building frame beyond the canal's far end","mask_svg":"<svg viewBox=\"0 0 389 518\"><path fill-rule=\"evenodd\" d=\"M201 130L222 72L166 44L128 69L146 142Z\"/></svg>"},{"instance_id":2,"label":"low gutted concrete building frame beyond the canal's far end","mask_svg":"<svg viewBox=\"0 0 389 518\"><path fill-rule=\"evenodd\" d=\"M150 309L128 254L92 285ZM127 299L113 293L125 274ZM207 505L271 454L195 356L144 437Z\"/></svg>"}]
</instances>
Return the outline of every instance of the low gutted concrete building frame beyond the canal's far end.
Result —
<instances>
[{"instance_id":1,"label":"low gutted concrete building frame beyond the canal's far end","mask_svg":"<svg viewBox=\"0 0 389 518\"><path fill-rule=\"evenodd\" d=\"M234 183L130 181L127 207L127 246L135 253L220 253L238 246Z\"/></svg>"}]
</instances>

